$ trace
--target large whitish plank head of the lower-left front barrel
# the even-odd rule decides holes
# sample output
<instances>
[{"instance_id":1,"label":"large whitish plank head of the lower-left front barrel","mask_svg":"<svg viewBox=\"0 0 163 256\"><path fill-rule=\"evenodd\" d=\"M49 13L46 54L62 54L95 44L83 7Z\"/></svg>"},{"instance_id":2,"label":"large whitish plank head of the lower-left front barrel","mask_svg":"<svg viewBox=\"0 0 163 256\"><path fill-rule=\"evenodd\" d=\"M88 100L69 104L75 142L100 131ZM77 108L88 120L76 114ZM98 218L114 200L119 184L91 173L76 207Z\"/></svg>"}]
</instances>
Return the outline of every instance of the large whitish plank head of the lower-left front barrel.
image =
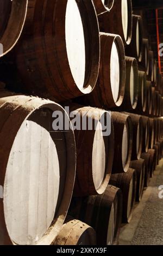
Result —
<instances>
[{"instance_id":1,"label":"large whitish plank head of the lower-left front barrel","mask_svg":"<svg viewBox=\"0 0 163 256\"><path fill-rule=\"evenodd\" d=\"M57 148L47 129L25 120L17 132L4 181L4 217L12 242L34 245L51 225L59 195Z\"/></svg>"}]
</instances>

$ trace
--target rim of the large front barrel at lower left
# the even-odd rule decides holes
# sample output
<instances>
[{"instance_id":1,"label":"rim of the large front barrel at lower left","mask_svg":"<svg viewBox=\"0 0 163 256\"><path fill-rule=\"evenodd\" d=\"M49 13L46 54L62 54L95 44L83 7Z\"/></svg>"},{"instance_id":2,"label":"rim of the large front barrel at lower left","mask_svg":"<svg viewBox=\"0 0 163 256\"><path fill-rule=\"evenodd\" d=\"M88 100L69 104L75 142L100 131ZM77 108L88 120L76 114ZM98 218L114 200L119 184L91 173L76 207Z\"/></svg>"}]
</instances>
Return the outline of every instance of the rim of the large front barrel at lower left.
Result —
<instances>
[{"instance_id":1,"label":"rim of the large front barrel at lower left","mask_svg":"<svg viewBox=\"0 0 163 256\"><path fill-rule=\"evenodd\" d=\"M11 93L11 96L13 96L13 93ZM19 96L21 96L21 94ZM18 96L16 96L16 97L18 97ZM24 122L33 114L33 112L35 112L39 109L42 109L42 108L49 108L54 111L57 108L57 109L61 110L66 115L66 118L68 118L68 120L70 122L70 119L69 119L66 111L58 103L54 103L50 100L45 100L45 99L42 100L42 99L36 98L36 97L32 97L32 98L29 96L26 96L26 97L27 97L27 99L30 100L30 108L28 108L25 113L26 117L25 118L24 118L24 116L21 117L22 118L21 122ZM35 103L34 108L32 108L32 102L31 102L32 99L34 100L34 103ZM72 128L71 122L70 122L70 126ZM54 240L54 237L57 236L59 229L62 226L62 223L64 223L64 220L66 217L66 212L68 211L68 207L71 202L73 186L74 186L74 178L75 178L75 172L76 172L76 144L75 144L73 129L70 129L69 133L65 133L65 139L66 139L66 145L71 146L71 153L69 153L67 155L67 169L66 169L66 178L69 182L68 182L68 184L65 183L64 192L62 195L62 201L61 201L59 209L56 213L56 216L54 217L54 221L53 221L53 223L51 223L51 227L49 227L49 229L47 230L47 233L42 236L42 238L36 243L36 245L43 245L43 244L50 245L51 244L51 242ZM12 138L12 140L14 141L15 138ZM73 147L72 147L72 140L74 142ZM9 154L10 154L10 150L9 150ZM8 158L9 158L9 156L7 157L7 160L8 160ZM4 173L4 176L5 176L5 173ZM4 179L5 179L5 177L4 177ZM4 219L4 221L5 221L5 219ZM7 231L7 235L5 235L5 239L7 239L6 237L10 237L8 234L8 231ZM13 245L15 245L15 243L13 241L11 241L11 242Z\"/></svg>"}]
</instances>

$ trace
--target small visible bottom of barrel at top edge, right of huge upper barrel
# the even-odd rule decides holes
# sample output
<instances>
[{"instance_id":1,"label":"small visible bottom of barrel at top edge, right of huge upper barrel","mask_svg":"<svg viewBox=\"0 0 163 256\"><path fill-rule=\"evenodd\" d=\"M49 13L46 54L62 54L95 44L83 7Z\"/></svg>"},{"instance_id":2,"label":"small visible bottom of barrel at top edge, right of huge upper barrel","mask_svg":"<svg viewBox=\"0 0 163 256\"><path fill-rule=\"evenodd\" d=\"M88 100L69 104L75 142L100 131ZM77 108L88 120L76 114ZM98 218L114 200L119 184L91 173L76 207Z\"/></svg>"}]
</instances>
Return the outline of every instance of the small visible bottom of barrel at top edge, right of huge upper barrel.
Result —
<instances>
[{"instance_id":1,"label":"small visible bottom of barrel at top edge, right of huge upper barrel","mask_svg":"<svg viewBox=\"0 0 163 256\"><path fill-rule=\"evenodd\" d=\"M114 0L93 0L97 15L110 11L114 5Z\"/></svg>"}]
</instances>

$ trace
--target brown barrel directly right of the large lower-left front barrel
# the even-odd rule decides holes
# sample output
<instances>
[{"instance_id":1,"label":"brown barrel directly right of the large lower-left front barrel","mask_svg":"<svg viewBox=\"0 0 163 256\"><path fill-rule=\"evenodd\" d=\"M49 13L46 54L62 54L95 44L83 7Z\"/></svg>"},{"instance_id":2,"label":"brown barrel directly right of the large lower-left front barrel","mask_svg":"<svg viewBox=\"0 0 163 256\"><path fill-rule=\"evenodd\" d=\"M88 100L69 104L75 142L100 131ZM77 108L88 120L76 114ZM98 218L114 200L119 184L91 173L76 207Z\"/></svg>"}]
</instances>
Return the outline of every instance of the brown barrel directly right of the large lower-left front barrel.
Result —
<instances>
[{"instance_id":1,"label":"brown barrel directly right of the large lower-left front barrel","mask_svg":"<svg viewBox=\"0 0 163 256\"><path fill-rule=\"evenodd\" d=\"M73 195L102 194L108 186L114 157L114 128L110 114L79 105L71 105L70 111L77 146Z\"/></svg>"}]
</instances>

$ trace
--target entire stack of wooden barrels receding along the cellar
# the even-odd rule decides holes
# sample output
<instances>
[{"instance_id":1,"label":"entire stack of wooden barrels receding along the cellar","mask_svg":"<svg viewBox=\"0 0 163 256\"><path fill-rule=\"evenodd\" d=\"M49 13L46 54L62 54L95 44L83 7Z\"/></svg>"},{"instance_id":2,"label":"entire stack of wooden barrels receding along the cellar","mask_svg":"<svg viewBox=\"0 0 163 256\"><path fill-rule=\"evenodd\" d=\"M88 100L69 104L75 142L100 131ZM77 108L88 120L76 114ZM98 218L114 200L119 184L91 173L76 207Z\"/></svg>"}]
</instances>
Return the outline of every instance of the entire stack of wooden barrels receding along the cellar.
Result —
<instances>
[{"instance_id":1,"label":"entire stack of wooden barrels receding along the cellar","mask_svg":"<svg viewBox=\"0 0 163 256\"><path fill-rule=\"evenodd\" d=\"M141 16L131 0L0 10L0 243L116 245L163 152Z\"/></svg>"}]
</instances>

